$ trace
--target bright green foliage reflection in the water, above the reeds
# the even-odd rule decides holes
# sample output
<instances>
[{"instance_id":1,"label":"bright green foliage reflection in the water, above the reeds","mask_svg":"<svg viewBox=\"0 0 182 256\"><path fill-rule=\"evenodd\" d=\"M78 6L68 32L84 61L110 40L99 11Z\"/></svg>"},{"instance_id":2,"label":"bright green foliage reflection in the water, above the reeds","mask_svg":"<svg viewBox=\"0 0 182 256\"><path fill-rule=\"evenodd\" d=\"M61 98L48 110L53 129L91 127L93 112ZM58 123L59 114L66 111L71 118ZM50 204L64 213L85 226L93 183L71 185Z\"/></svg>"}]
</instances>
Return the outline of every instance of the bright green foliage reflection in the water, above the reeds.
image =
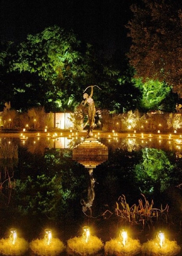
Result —
<instances>
[{"instance_id":1,"label":"bright green foliage reflection in the water, above the reeds","mask_svg":"<svg viewBox=\"0 0 182 256\"><path fill-rule=\"evenodd\" d=\"M144 148L142 158L142 162L135 165L134 171L143 192L164 191L175 183L172 177L174 165L163 150Z\"/></svg>"}]
</instances>

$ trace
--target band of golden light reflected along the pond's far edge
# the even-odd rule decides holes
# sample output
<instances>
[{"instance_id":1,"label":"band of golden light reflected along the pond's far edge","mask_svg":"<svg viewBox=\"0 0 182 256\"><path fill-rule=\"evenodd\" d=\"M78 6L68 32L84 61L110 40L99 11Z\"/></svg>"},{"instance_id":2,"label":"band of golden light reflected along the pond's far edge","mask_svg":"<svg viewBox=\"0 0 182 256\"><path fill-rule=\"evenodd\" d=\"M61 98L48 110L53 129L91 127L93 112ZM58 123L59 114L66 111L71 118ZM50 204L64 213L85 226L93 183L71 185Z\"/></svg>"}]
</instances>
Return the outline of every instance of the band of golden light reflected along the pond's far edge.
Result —
<instances>
[{"instance_id":1,"label":"band of golden light reflected along the pond's far edge","mask_svg":"<svg viewBox=\"0 0 182 256\"><path fill-rule=\"evenodd\" d=\"M20 147L26 147L29 152L34 153L37 149L41 150L42 153L45 148L55 148L55 149L73 149L76 145L84 141L83 137L57 137L55 139L49 137L28 137L25 139L20 138L9 138L0 137L1 144L14 143ZM167 139L167 138L133 138L133 137L108 137L108 138L97 138L98 141L105 144L109 149L122 149L128 152L138 151L141 148L156 148L162 150L170 150L176 152L177 157L181 157L182 141L179 139Z\"/></svg>"}]
</instances>

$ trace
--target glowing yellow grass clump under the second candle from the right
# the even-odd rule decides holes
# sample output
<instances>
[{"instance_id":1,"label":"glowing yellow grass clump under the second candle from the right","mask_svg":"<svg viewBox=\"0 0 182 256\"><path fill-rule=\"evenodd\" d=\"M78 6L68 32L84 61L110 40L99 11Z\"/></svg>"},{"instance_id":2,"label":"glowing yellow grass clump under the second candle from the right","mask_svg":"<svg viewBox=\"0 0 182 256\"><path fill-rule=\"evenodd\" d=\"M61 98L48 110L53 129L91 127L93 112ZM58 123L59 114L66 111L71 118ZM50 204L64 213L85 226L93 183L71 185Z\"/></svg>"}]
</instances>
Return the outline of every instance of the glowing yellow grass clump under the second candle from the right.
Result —
<instances>
[{"instance_id":1,"label":"glowing yellow grass clump under the second candle from the right","mask_svg":"<svg viewBox=\"0 0 182 256\"><path fill-rule=\"evenodd\" d=\"M105 244L105 254L106 255L137 255L141 252L141 245L139 240L133 240L128 237L127 243L123 246L121 240L119 238L111 239L107 241Z\"/></svg>"}]
</instances>

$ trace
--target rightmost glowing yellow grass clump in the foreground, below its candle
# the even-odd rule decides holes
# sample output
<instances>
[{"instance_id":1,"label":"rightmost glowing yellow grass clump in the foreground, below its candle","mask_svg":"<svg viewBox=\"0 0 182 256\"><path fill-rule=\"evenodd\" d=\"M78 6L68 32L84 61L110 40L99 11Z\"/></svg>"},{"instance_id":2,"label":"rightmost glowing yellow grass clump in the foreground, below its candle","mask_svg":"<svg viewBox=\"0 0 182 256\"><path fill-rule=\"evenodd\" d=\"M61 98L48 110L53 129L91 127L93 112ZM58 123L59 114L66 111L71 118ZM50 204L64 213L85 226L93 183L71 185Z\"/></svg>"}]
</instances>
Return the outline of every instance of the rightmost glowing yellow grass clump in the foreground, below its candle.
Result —
<instances>
[{"instance_id":1,"label":"rightmost glowing yellow grass clump in the foreground, below its candle","mask_svg":"<svg viewBox=\"0 0 182 256\"><path fill-rule=\"evenodd\" d=\"M151 255L151 256L173 256L177 255L181 247L177 245L176 241L170 241L165 238L165 243L162 247L159 246L159 241L157 238L154 240L149 240L146 243L143 243L142 247L142 255Z\"/></svg>"}]
</instances>

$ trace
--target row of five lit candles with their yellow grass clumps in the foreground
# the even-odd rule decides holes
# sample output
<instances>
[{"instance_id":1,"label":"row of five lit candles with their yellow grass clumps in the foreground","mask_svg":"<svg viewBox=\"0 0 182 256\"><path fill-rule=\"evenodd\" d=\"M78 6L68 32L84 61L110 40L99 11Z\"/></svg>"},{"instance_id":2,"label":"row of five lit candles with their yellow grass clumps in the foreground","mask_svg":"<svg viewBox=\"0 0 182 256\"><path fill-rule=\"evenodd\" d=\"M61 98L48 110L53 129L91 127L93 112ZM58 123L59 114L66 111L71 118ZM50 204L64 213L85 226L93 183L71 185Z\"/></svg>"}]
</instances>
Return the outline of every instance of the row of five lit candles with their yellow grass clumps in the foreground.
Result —
<instances>
[{"instance_id":1,"label":"row of five lit candles with their yellow grass clumps in the foreground","mask_svg":"<svg viewBox=\"0 0 182 256\"><path fill-rule=\"evenodd\" d=\"M11 254L9 255L19 255L17 254L17 252L13 251L16 251L17 248L21 251L21 255L25 253L22 252L22 250L28 251L29 247L32 251L35 250L34 253L36 253L36 255L59 255L63 250L65 250L65 246L63 245L63 243L58 238L52 237L51 229L45 229L44 239L33 240L32 242L30 242L30 245L27 241L21 240L20 242L18 241L18 239L23 238L17 237L16 229L10 229L10 237L7 239L9 245L7 245L6 242L8 253L11 248ZM7 255L8 253L6 249L3 250L2 248L3 241L5 240L1 240L0 253L3 255ZM18 247L16 246L16 244L18 244ZM101 250L104 246L99 238L90 234L90 228L88 226L83 227L83 234L81 237L74 237L69 239L67 241L67 245L67 249L71 249L73 252L79 253L80 255L96 254L96 252ZM154 240L148 241L141 246L139 240L133 240L131 237L128 237L127 230L122 229L119 233L118 238L111 239L105 244L105 251L109 255L118 255L118 253L136 255L141 251L142 255L153 255L148 254L150 250L154 251L155 253L157 252L157 255L177 255L180 252L180 249L181 248L177 245L176 241L169 241L167 238L165 238L165 234L163 231L159 231Z\"/></svg>"}]
</instances>

